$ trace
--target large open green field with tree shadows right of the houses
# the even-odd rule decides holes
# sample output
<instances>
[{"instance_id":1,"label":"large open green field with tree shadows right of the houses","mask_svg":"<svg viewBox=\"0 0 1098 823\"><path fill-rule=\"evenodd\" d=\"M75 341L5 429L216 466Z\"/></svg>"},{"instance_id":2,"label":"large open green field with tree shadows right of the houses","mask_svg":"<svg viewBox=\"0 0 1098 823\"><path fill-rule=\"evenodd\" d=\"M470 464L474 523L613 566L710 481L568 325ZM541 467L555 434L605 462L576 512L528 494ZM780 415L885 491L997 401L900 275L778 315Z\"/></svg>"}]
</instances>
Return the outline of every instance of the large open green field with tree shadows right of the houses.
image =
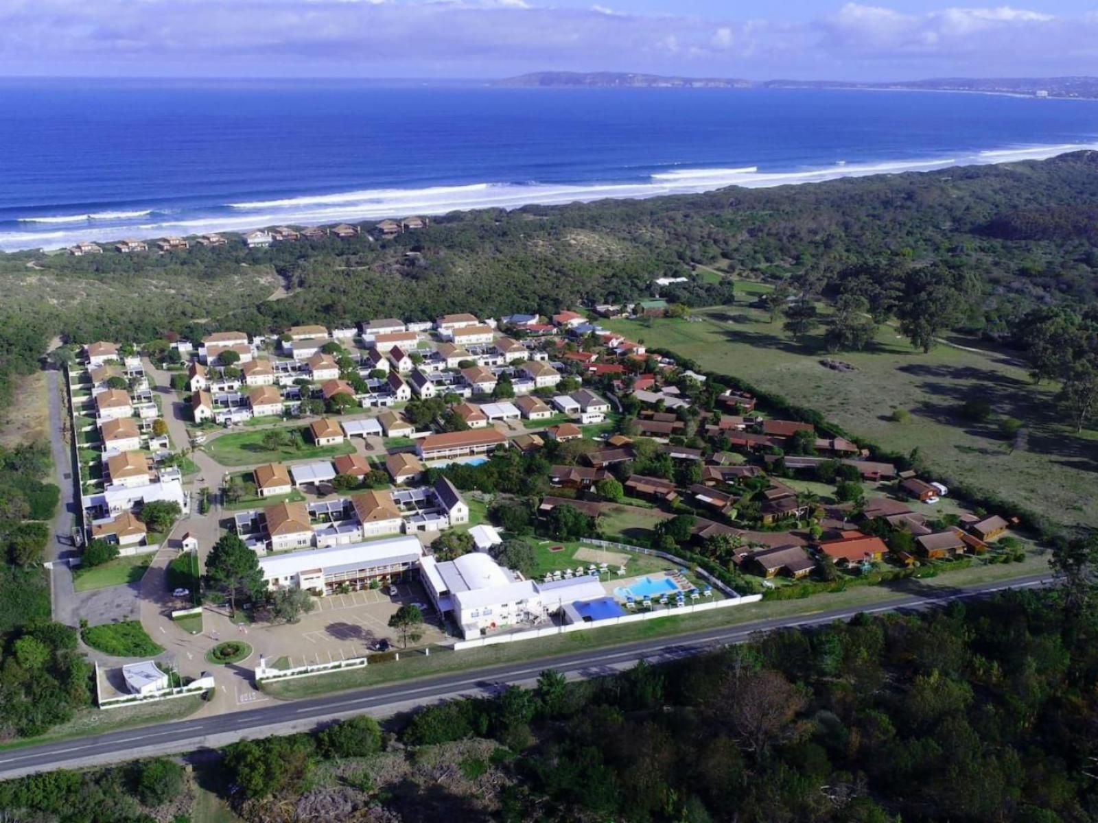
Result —
<instances>
[{"instance_id":1,"label":"large open green field with tree shadows right of the houses","mask_svg":"<svg viewBox=\"0 0 1098 823\"><path fill-rule=\"evenodd\" d=\"M704 309L695 316L703 322L604 325L691 358L703 369L741 377L816 408L884 448L900 452L918 448L942 477L964 478L1053 519L1098 526L1098 495L1090 491L1098 440L1062 425L1053 403L1055 387L1034 386L1012 356L945 345L923 354L895 329L882 326L873 350L834 356L856 371L834 372L819 363L827 357L820 331L794 342L780 322L771 324L765 312L741 305ZM959 409L970 397L985 397L997 415L1022 420L1028 431L1024 447L1011 450L994 419L963 420ZM888 419L896 407L910 413L908 422Z\"/></svg>"}]
</instances>

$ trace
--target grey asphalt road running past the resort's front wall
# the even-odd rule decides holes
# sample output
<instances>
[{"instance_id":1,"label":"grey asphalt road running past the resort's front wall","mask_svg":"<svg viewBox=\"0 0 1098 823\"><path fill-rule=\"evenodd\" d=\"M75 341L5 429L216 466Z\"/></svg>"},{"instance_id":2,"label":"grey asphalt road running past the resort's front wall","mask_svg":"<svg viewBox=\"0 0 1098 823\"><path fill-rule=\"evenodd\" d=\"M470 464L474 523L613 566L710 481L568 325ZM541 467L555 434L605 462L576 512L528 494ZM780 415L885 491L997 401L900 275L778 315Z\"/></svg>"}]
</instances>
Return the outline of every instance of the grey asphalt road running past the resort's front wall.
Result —
<instances>
[{"instance_id":1,"label":"grey asphalt road running past the resort's front wall","mask_svg":"<svg viewBox=\"0 0 1098 823\"><path fill-rule=\"evenodd\" d=\"M313 728L322 721L352 714L379 717L458 695L484 694L503 684L526 683L546 668L579 677L612 674L640 659L661 662L698 654L716 646L747 640L760 631L817 625L844 620L859 612L919 609L950 600L979 597L1007 588L1046 585L1047 574L1019 577L965 588L935 587L892 600L873 609L833 609L815 615L758 620L672 638L657 638L608 649L524 661L471 672L458 672L405 683L296 701L277 701L269 707L127 729L94 736L0 752L0 778L56 768L75 768L148 756L192 752L221 746L244 737L262 737ZM536 641L529 641L536 642ZM109 711L109 710L105 710Z\"/></svg>"}]
</instances>

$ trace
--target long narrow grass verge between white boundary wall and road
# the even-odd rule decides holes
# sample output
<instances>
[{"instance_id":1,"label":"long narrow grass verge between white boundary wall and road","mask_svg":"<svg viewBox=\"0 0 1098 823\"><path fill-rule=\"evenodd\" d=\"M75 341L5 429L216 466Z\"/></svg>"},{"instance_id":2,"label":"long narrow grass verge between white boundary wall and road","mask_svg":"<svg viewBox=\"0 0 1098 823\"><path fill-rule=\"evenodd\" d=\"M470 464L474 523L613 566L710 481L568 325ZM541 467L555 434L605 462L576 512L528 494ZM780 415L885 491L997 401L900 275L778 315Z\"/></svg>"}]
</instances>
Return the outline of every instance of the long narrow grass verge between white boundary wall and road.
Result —
<instances>
[{"instance_id":1,"label":"long narrow grass verge between white boundary wall and road","mask_svg":"<svg viewBox=\"0 0 1098 823\"><path fill-rule=\"evenodd\" d=\"M1042 571L1047 571L1047 563L1041 557L1029 555L1026 563L973 566L939 577L918 580L915 590L927 590L929 594L938 589L938 593L941 593L943 588L948 590L955 586L1009 580L1013 577L1023 577ZM672 636L683 632L703 631L721 625L737 625L794 615L804 615L808 619L813 615L830 609L887 608L889 600L908 597L911 591L911 586L855 586L844 591L820 595L811 600L763 600L697 615L672 613L666 618L627 625L571 632L552 638L541 638L537 641L501 643L500 645L470 649L462 652L433 649L429 656L410 654L392 665L376 665L316 677L303 677L298 680L266 683L262 690L272 697L290 700L518 661L538 661L536 665L531 666L533 669L537 670L538 667L551 668L552 658L557 655L620 645L632 641Z\"/></svg>"}]
</instances>

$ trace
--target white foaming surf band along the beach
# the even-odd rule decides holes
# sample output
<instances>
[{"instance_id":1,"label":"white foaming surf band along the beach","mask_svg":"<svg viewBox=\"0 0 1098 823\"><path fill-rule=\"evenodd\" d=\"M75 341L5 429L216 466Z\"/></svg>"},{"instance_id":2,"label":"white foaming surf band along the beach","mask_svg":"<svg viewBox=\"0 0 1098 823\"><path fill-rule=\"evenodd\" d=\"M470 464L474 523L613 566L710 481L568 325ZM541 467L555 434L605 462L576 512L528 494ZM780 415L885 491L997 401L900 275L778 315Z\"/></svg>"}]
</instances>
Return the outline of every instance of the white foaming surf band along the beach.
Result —
<instances>
[{"instance_id":1,"label":"white foaming surf band along the beach","mask_svg":"<svg viewBox=\"0 0 1098 823\"><path fill-rule=\"evenodd\" d=\"M855 89L859 91L934 91L922 89ZM964 90L949 93L989 93ZM995 92L990 92L995 93ZM1009 95L1013 97L1013 95ZM271 201L226 203L212 208L229 210L226 215L194 216L163 223L96 226L89 215L87 225L81 215L47 215L10 221L16 225L56 225L54 230L0 232L0 252L63 250L79 241L113 245L122 239L148 240L166 236L192 237L201 234L245 234L277 225L332 225L340 222L362 223L386 217L401 218L408 214L438 216L450 212L484 208L513 211L526 206L557 206L590 203L598 200L648 200L660 196L705 194L730 188L777 188L828 182L843 178L877 174L926 173L970 166L1002 165L1021 161L1043 161L1064 154L1098 150L1098 142L1087 144L1038 145L1029 147L983 149L955 153L960 157L912 158L867 162L838 161L836 165L796 171L766 171L754 166L684 167L652 173L647 181L590 183L439 183L423 189L362 190L282 198ZM388 202L379 195L388 195ZM451 199L439 200L440 195ZM421 201L417 201L419 198ZM233 210L236 214L233 214ZM133 214L146 218L159 210L116 210L119 216ZM248 215L247 212L260 212ZM266 213L265 213L266 212ZM94 214L94 213L92 213ZM113 217L113 215L111 215ZM107 215L104 214L104 219Z\"/></svg>"}]
</instances>

